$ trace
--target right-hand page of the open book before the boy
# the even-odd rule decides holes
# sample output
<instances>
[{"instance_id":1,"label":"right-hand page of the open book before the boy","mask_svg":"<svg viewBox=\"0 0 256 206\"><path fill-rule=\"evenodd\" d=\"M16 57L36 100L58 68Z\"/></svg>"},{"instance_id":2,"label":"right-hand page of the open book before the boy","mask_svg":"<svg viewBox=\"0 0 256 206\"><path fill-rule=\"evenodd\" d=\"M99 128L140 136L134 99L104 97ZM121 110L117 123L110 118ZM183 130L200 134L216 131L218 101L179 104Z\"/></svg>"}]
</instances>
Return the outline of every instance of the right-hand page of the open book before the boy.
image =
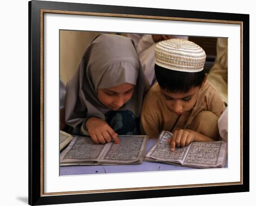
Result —
<instances>
[{"instance_id":1,"label":"right-hand page of the open book before the boy","mask_svg":"<svg viewBox=\"0 0 256 206\"><path fill-rule=\"evenodd\" d=\"M223 167L226 155L226 142L192 142L183 166L196 168Z\"/></svg>"}]
</instances>

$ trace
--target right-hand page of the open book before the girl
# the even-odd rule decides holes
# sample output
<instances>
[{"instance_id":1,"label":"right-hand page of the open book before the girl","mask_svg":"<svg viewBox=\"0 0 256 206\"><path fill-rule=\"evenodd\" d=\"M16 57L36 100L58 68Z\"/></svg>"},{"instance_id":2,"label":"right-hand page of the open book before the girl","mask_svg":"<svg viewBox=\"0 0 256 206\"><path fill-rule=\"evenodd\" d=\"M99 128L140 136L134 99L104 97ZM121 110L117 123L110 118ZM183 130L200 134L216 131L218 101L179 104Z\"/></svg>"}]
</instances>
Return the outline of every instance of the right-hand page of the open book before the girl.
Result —
<instances>
[{"instance_id":1,"label":"right-hand page of the open book before the girl","mask_svg":"<svg viewBox=\"0 0 256 206\"><path fill-rule=\"evenodd\" d=\"M119 135L119 144L108 145L101 164L139 164L144 159L147 135Z\"/></svg>"}]
</instances>

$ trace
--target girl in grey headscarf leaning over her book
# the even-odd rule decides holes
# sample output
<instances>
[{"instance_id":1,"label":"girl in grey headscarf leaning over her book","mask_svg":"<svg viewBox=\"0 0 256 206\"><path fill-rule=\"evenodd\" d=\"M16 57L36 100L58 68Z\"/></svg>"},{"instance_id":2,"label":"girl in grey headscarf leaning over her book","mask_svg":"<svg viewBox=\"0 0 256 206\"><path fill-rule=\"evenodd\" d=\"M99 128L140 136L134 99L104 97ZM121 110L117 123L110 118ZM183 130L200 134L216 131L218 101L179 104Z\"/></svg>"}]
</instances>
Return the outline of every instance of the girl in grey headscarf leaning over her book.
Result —
<instances>
[{"instance_id":1,"label":"girl in grey headscarf leaning over her book","mask_svg":"<svg viewBox=\"0 0 256 206\"><path fill-rule=\"evenodd\" d=\"M139 135L139 117L149 88L132 39L100 34L88 45L67 83L66 123L94 142L119 143Z\"/></svg>"}]
</instances>

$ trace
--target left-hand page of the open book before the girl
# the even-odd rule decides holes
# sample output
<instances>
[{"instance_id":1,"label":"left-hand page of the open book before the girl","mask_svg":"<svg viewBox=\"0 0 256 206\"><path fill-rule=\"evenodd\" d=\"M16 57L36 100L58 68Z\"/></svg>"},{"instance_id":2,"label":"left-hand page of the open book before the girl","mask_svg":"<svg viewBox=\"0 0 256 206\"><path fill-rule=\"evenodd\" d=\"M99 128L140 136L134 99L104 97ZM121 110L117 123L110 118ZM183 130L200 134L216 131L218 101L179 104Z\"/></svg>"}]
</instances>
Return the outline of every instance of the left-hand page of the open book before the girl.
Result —
<instances>
[{"instance_id":1,"label":"left-hand page of the open book before the girl","mask_svg":"<svg viewBox=\"0 0 256 206\"><path fill-rule=\"evenodd\" d=\"M61 152L60 165L97 164L108 144L96 144L90 136L75 136L68 147Z\"/></svg>"}]
</instances>

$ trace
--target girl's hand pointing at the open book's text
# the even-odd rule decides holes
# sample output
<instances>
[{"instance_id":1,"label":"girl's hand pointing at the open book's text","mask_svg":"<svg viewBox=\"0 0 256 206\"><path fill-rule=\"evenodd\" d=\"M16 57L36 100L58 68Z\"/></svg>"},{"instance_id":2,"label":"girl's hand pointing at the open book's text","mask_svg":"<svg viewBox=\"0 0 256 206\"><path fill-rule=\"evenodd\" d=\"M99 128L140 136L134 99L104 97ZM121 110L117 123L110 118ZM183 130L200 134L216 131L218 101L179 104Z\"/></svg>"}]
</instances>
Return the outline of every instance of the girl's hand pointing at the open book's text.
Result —
<instances>
[{"instance_id":1,"label":"girl's hand pointing at the open book's text","mask_svg":"<svg viewBox=\"0 0 256 206\"><path fill-rule=\"evenodd\" d=\"M91 117L86 121L85 127L95 143L101 142L104 144L110 142L111 138L113 138L115 143L119 144L117 134L104 120L97 117Z\"/></svg>"}]
</instances>

